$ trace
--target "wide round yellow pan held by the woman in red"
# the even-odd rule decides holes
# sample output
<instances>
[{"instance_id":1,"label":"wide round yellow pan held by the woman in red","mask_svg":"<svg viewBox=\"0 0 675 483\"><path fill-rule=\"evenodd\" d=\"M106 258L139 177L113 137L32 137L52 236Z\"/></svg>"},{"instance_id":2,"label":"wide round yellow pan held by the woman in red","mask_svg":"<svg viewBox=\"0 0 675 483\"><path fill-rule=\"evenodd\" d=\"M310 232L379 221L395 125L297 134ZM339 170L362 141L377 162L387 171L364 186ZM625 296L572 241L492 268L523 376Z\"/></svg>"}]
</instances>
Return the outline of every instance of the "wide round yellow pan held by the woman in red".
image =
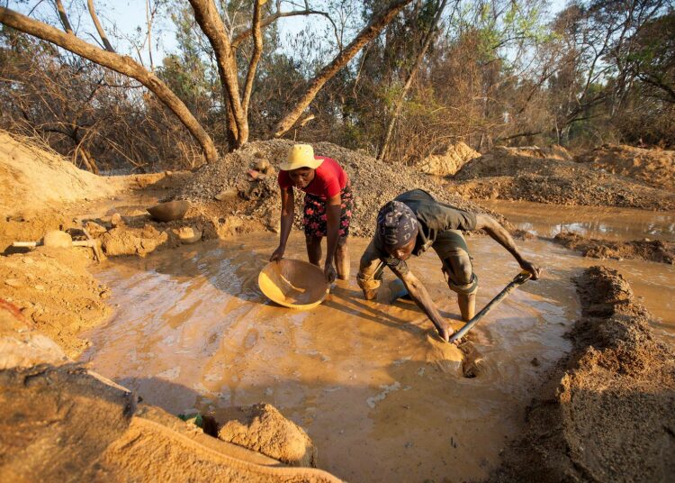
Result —
<instances>
[{"instance_id":1,"label":"wide round yellow pan held by the woman in red","mask_svg":"<svg viewBox=\"0 0 675 483\"><path fill-rule=\"evenodd\" d=\"M269 262L260 271L257 285L276 304L296 310L320 305L329 293L323 270L302 260Z\"/></svg>"}]
</instances>

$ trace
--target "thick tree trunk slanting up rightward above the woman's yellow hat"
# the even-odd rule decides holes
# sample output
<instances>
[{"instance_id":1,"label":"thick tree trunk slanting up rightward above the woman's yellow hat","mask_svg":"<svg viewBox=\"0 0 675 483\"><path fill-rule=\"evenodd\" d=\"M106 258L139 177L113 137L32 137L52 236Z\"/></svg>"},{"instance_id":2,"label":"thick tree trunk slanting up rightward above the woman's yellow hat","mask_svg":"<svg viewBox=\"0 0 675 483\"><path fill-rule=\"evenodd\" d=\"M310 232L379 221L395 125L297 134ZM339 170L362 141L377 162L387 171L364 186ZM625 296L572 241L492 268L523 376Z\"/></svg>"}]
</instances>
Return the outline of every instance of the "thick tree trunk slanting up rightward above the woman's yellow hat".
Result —
<instances>
[{"instance_id":1,"label":"thick tree trunk slanting up rightward above the woman's yellow hat","mask_svg":"<svg viewBox=\"0 0 675 483\"><path fill-rule=\"evenodd\" d=\"M283 136L288 132L288 130L293 127L293 124L300 118L302 112L311 104L311 101L314 100L314 97L319 93L321 87L323 87L331 77L335 76L341 68L345 67L347 62L349 62L349 60L351 60L366 43L372 41L380 32L382 32L387 23L392 22L393 18L401 12L404 6L410 4L411 1L412 0L394 0L390 3L382 14L375 16L374 19L368 23L358 35L356 35L356 38L347 45L345 50L340 51L338 56L333 59L329 65L322 68L319 74L311 80L309 87L307 87L307 90L301 98L298 99L293 106L293 109L276 125L275 137Z\"/></svg>"}]
</instances>

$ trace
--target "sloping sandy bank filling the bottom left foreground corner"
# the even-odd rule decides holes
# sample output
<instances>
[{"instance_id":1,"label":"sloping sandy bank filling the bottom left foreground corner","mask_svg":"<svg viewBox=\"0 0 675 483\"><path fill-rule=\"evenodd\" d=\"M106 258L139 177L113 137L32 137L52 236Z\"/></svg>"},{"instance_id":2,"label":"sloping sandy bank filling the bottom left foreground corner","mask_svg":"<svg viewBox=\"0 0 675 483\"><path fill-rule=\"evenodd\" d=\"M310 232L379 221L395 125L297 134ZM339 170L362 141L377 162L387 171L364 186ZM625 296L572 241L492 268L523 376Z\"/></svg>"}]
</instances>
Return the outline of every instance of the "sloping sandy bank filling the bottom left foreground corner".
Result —
<instances>
[{"instance_id":1,"label":"sloping sandy bank filling the bottom left foreground corner","mask_svg":"<svg viewBox=\"0 0 675 483\"><path fill-rule=\"evenodd\" d=\"M338 481L139 405L22 319L0 304L1 481Z\"/></svg>"}]
</instances>

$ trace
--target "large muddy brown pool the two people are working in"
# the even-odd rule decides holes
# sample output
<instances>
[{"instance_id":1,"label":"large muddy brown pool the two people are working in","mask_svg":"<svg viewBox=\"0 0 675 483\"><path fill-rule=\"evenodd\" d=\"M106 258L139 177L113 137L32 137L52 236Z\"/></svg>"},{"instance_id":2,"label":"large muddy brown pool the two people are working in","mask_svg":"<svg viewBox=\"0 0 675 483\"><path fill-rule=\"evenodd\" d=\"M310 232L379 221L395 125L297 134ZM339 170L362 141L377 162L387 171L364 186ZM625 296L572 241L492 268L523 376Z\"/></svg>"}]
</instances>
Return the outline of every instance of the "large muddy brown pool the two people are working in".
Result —
<instances>
[{"instance_id":1,"label":"large muddy brown pool the two people are working in","mask_svg":"<svg viewBox=\"0 0 675 483\"><path fill-rule=\"evenodd\" d=\"M354 275L366 241L350 242ZM469 244L480 307L518 266L487 237ZM518 435L533 387L569 350L563 333L579 315L570 278L599 262L547 241L519 245L546 275L516 290L473 330L475 378L463 377L457 352L435 340L417 307L366 302L354 277L338 282L310 312L267 301L257 275L276 246L273 234L107 262L97 276L112 287L115 314L84 334L93 345L82 359L174 414L218 417L232 405L270 403L306 429L320 468L339 478L484 478ZM286 256L305 257L297 232ZM672 267L606 264L661 314L660 333L675 341ZM411 268L459 326L436 255L412 260Z\"/></svg>"}]
</instances>

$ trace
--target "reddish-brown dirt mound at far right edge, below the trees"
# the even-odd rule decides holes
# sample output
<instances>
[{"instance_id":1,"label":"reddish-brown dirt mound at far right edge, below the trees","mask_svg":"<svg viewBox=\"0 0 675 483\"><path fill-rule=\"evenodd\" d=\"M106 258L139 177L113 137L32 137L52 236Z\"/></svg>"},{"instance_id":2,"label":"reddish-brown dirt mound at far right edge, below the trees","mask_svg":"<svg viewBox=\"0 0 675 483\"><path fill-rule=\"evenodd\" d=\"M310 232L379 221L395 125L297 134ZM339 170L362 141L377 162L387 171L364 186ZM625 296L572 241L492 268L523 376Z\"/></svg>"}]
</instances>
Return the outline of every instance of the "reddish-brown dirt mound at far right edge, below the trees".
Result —
<instances>
[{"instance_id":1,"label":"reddish-brown dirt mound at far right edge, below the trees","mask_svg":"<svg viewBox=\"0 0 675 483\"><path fill-rule=\"evenodd\" d=\"M575 159L591 169L635 178L652 187L675 191L675 150L646 150L606 144Z\"/></svg>"}]
</instances>

